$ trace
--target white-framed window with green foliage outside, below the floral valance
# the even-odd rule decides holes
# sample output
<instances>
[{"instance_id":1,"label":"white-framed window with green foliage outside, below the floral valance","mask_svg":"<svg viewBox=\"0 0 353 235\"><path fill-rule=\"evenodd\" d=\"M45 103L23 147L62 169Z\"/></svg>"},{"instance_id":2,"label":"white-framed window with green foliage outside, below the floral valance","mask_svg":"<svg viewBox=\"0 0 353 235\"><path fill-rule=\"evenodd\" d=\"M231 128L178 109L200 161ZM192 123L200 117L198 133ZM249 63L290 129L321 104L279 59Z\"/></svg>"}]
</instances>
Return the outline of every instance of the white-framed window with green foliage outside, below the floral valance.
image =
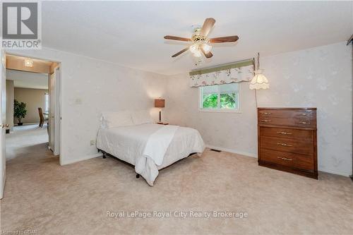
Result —
<instances>
[{"instance_id":1,"label":"white-framed window with green foliage outside, below the floral valance","mask_svg":"<svg viewBox=\"0 0 353 235\"><path fill-rule=\"evenodd\" d=\"M200 87L200 110L239 112L239 83Z\"/></svg>"}]
</instances>

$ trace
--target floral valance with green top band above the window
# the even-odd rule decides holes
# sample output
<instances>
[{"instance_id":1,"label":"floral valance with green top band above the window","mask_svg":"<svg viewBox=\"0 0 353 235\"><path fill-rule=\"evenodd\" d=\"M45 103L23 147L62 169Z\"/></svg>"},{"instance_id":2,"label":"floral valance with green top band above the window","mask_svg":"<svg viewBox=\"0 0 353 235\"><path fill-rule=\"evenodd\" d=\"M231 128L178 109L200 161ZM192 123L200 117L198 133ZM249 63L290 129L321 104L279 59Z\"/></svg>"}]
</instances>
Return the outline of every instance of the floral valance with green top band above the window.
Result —
<instances>
[{"instance_id":1,"label":"floral valance with green top band above the window","mask_svg":"<svg viewBox=\"0 0 353 235\"><path fill-rule=\"evenodd\" d=\"M213 68L203 68L199 71L191 71L189 74L192 88L250 81L253 78L253 60L240 61Z\"/></svg>"}]
</instances>

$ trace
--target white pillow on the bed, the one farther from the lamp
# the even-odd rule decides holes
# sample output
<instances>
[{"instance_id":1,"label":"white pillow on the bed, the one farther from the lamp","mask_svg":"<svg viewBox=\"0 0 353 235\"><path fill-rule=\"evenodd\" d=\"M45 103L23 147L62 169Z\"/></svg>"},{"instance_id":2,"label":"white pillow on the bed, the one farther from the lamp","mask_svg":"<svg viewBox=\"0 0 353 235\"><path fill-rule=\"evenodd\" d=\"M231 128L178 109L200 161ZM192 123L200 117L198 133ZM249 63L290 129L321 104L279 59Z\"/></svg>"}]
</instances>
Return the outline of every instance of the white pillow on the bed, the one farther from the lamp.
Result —
<instances>
[{"instance_id":1,"label":"white pillow on the bed, the one farther from the lamp","mask_svg":"<svg viewBox=\"0 0 353 235\"><path fill-rule=\"evenodd\" d=\"M119 126L133 126L133 121L131 119L131 113L129 111L103 112L102 124L103 126L107 126L107 128Z\"/></svg>"}]
</instances>

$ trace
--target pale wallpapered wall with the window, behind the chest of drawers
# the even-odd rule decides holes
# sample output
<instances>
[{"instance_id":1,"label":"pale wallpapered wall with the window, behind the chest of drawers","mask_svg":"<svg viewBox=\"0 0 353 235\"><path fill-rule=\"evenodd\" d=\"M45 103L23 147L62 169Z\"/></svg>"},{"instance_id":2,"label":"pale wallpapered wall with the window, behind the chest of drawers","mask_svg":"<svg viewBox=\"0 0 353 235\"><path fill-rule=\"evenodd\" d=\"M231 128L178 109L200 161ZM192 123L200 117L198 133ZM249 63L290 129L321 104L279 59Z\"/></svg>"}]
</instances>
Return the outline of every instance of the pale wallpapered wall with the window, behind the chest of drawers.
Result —
<instances>
[{"instance_id":1,"label":"pale wallpapered wall with the window, behind the chest of drawers","mask_svg":"<svg viewBox=\"0 0 353 235\"><path fill-rule=\"evenodd\" d=\"M270 81L258 107L318 108L318 168L352 174L352 52L345 42L261 58ZM166 119L198 129L205 143L257 156L254 92L241 84L241 114L198 112L198 88L188 74L168 78Z\"/></svg>"}]
</instances>

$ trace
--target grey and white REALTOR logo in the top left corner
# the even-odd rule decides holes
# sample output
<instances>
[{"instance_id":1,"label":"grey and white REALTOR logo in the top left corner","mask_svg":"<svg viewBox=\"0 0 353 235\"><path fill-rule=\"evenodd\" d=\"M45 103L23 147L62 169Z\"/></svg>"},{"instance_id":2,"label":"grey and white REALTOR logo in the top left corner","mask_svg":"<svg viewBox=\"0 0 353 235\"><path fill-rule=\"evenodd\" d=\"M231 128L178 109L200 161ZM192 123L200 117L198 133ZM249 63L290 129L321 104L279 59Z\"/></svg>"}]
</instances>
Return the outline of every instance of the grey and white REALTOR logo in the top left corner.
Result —
<instances>
[{"instance_id":1,"label":"grey and white REALTOR logo in the top left corner","mask_svg":"<svg viewBox=\"0 0 353 235\"><path fill-rule=\"evenodd\" d=\"M40 49L40 2L2 2L2 49Z\"/></svg>"}]
</instances>

